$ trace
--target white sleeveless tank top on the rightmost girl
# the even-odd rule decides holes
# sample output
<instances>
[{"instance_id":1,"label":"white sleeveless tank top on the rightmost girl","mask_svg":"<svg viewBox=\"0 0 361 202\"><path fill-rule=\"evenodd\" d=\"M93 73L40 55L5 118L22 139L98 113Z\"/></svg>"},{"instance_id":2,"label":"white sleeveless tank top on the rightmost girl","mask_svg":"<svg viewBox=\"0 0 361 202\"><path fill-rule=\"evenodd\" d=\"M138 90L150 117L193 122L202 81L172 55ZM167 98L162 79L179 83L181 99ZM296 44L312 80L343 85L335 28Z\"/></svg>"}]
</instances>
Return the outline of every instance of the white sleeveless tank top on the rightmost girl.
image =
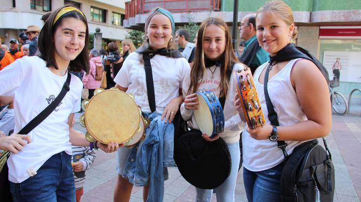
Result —
<instances>
[{"instance_id":1,"label":"white sleeveless tank top on the rightmost girl","mask_svg":"<svg viewBox=\"0 0 361 202\"><path fill-rule=\"evenodd\" d=\"M297 99L295 90L291 84L291 70L295 62L299 59L291 60L276 75L268 81L268 94L278 115L280 126L288 126L307 120L301 105ZM263 69L268 66L264 63L254 72L253 80L256 86L261 107L268 124L268 111L263 91L263 84L259 83L259 76ZM271 124L272 125L272 124ZM275 167L283 160L282 150L278 148L277 142L269 139L256 140L244 130L242 134L243 141L243 165L250 171L257 172ZM303 142L303 141L302 141ZM291 154L293 149L301 144L299 141L286 141L286 151Z\"/></svg>"}]
</instances>

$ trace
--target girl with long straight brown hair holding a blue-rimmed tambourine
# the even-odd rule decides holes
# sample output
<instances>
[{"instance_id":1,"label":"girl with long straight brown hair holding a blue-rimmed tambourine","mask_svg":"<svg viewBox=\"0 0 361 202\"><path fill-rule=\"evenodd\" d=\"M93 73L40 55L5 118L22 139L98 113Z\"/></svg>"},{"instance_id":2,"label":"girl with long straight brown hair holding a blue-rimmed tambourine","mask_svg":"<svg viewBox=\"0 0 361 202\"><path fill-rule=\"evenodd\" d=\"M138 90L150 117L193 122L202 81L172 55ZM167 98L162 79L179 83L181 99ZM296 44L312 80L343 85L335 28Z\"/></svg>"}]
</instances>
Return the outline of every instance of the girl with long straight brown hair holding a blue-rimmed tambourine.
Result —
<instances>
[{"instance_id":1,"label":"girl with long straight brown hair holding a blue-rimmed tambourine","mask_svg":"<svg viewBox=\"0 0 361 202\"><path fill-rule=\"evenodd\" d=\"M199 130L193 110L197 110L195 92L212 91L217 97L225 97L224 102L224 132L210 138L202 134L207 141L222 138L228 146L232 166L229 177L216 188L218 202L234 202L238 166L240 163L239 138L244 123L241 121L233 103L236 85L232 70L244 69L233 53L231 37L227 24L219 18L209 18L202 22L198 30L198 40L194 64L190 75L183 81L184 104L181 114L188 127ZM212 190L196 188L196 201L209 202Z\"/></svg>"}]
</instances>

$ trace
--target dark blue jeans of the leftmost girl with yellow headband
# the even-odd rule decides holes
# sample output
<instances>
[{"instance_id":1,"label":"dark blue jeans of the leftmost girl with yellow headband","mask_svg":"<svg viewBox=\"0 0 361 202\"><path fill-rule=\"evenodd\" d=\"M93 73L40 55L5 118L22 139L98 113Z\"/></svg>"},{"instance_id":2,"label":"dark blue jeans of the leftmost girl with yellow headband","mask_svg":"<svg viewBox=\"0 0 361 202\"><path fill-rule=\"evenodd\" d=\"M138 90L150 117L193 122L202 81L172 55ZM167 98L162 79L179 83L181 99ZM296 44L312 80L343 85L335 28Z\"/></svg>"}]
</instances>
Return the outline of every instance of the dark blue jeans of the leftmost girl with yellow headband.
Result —
<instances>
[{"instance_id":1,"label":"dark blue jeans of the leftmost girl with yellow headband","mask_svg":"<svg viewBox=\"0 0 361 202\"><path fill-rule=\"evenodd\" d=\"M75 202L70 155L65 152L53 155L36 172L21 183L10 182L14 202Z\"/></svg>"}]
</instances>

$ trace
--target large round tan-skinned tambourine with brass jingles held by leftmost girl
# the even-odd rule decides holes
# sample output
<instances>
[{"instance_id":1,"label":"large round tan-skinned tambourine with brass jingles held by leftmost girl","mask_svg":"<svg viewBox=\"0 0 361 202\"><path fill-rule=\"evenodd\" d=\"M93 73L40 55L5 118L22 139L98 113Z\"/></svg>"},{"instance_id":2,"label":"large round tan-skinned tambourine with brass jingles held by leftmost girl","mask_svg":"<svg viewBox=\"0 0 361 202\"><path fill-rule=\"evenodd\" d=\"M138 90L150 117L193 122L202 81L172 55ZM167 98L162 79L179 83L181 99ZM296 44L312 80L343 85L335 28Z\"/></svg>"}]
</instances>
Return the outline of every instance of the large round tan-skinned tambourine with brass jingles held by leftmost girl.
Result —
<instances>
[{"instance_id":1,"label":"large round tan-skinned tambourine with brass jingles held by leftmost girl","mask_svg":"<svg viewBox=\"0 0 361 202\"><path fill-rule=\"evenodd\" d=\"M82 108L85 112L80 117L80 124L86 127L85 137L90 142L126 142L126 146L131 147L144 136L148 123L132 94L116 88L99 88L90 100L83 101Z\"/></svg>"}]
</instances>

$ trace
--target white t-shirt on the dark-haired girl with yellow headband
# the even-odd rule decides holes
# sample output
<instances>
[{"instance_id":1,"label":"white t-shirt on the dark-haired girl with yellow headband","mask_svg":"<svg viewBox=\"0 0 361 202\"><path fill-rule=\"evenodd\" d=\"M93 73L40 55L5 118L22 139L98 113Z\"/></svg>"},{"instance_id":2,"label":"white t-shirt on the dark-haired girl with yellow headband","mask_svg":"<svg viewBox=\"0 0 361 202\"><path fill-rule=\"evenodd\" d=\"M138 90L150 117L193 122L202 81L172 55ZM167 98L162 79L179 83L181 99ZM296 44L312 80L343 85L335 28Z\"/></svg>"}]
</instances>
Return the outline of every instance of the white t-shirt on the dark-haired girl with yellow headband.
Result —
<instances>
[{"instance_id":1,"label":"white t-shirt on the dark-haired girl with yellow headband","mask_svg":"<svg viewBox=\"0 0 361 202\"><path fill-rule=\"evenodd\" d=\"M0 71L0 95L14 98L15 133L54 101L66 78L67 74L54 74L37 56L18 59ZM18 154L10 155L10 181L20 183L28 179L29 169L37 171L59 152L72 154L67 121L70 113L80 110L82 88L80 79L71 75L70 91L54 112L28 134L31 143Z\"/></svg>"}]
</instances>

